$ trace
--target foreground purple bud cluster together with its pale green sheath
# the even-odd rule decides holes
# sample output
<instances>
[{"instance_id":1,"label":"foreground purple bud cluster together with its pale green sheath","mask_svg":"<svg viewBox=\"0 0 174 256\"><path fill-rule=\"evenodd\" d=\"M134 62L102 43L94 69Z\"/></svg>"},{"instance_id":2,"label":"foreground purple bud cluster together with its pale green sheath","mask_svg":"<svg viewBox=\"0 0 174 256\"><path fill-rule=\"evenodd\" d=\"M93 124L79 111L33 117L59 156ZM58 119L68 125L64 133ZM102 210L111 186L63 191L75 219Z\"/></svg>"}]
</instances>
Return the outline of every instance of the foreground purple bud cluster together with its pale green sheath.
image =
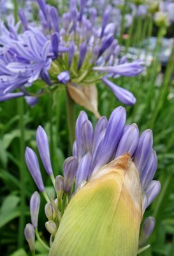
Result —
<instances>
[{"instance_id":1,"label":"foreground purple bud cluster together with its pale green sheath","mask_svg":"<svg viewBox=\"0 0 174 256\"><path fill-rule=\"evenodd\" d=\"M55 177L57 198L45 205L49 255L135 256L149 248L155 220L148 217L141 234L140 225L161 189L156 168L152 131L126 125L126 109L99 118L95 129L82 111L73 156L64 161L64 177Z\"/></svg>"}]
</instances>

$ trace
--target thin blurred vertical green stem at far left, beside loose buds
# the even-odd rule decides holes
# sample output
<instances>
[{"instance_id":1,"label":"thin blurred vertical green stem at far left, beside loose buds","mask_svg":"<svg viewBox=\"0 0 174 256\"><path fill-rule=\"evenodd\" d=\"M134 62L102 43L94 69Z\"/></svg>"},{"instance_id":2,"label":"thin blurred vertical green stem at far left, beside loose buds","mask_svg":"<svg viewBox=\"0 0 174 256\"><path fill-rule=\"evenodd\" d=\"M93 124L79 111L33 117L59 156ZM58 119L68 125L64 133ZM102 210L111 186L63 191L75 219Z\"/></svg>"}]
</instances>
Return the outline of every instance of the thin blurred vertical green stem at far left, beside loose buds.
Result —
<instances>
[{"instance_id":1,"label":"thin blurred vertical green stem at far left, beside loose buds","mask_svg":"<svg viewBox=\"0 0 174 256\"><path fill-rule=\"evenodd\" d=\"M18 115L20 129L20 219L18 225L18 247L24 244L24 225L25 225L25 126L24 126L24 101L18 99Z\"/></svg>"}]
</instances>

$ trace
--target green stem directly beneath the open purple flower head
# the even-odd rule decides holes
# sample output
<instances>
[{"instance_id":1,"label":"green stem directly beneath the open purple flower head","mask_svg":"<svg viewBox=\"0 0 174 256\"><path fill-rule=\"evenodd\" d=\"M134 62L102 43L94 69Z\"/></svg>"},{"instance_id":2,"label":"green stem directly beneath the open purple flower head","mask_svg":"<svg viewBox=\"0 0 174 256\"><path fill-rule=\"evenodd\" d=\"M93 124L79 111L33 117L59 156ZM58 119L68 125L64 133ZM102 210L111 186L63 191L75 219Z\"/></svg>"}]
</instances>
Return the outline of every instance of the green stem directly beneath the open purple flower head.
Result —
<instances>
[{"instance_id":1,"label":"green stem directly beneath the open purple flower head","mask_svg":"<svg viewBox=\"0 0 174 256\"><path fill-rule=\"evenodd\" d=\"M68 89L66 89L66 112L68 120L68 130L69 130L69 141L71 143L71 148L73 148L73 143L75 141L75 102L71 99Z\"/></svg>"}]
</instances>

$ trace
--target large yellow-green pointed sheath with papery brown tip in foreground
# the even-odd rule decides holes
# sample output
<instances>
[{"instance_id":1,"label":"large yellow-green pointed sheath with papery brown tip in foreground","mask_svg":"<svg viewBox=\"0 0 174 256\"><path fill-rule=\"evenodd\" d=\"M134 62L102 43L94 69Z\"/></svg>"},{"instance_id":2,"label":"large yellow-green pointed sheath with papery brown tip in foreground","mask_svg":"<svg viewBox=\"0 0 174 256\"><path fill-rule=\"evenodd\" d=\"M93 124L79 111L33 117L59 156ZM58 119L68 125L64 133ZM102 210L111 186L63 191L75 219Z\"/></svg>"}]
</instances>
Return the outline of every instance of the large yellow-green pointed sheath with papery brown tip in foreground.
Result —
<instances>
[{"instance_id":1,"label":"large yellow-green pointed sheath with papery brown tip in foreground","mask_svg":"<svg viewBox=\"0 0 174 256\"><path fill-rule=\"evenodd\" d=\"M94 173L69 202L50 256L135 256L141 185L129 154Z\"/></svg>"}]
</instances>

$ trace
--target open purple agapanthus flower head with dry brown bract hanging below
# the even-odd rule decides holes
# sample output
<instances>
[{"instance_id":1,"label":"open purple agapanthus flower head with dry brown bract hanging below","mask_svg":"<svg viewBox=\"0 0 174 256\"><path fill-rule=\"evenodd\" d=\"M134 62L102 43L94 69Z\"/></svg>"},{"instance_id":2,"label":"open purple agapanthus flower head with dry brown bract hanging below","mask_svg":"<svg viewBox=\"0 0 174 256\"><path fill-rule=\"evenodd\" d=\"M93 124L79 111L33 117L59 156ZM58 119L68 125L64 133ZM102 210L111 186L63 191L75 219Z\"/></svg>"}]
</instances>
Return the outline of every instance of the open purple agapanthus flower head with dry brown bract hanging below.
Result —
<instances>
[{"instance_id":1,"label":"open purple agapanthus flower head with dry brown bract hanging below","mask_svg":"<svg viewBox=\"0 0 174 256\"><path fill-rule=\"evenodd\" d=\"M99 116L96 83L102 82L103 77L138 76L145 69L143 63L138 60L128 63L124 56L119 57L120 46L115 38L117 24L110 22L110 7L105 9L99 24L95 8L86 14L85 1L80 1L79 6L76 1L69 1L69 11L62 17L45 0L38 0L38 4L40 27L27 22L22 10L17 24L13 20L7 26L1 24L0 100L5 100L4 95L15 93L16 89L26 99L36 100L37 90L32 92L29 88L33 84L36 88L42 87L40 95L64 84L75 102ZM22 33L19 33L20 26L23 26ZM135 103L131 93L118 84L111 89L124 104Z\"/></svg>"}]
</instances>

